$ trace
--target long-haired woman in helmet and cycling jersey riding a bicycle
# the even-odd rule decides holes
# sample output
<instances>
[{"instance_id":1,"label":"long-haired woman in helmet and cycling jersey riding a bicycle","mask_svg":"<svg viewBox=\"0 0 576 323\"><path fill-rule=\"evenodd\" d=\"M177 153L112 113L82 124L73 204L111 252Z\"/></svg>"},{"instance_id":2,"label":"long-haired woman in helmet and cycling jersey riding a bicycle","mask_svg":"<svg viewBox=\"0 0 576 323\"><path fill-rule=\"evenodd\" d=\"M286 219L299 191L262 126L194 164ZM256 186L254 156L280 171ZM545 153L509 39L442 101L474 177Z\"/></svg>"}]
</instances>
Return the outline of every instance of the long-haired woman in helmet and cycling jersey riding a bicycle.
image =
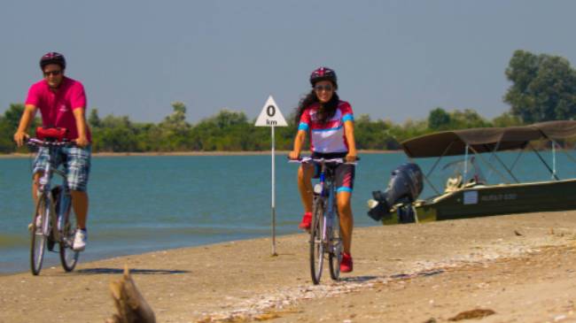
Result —
<instances>
[{"instance_id":1,"label":"long-haired woman in helmet and cycling jersey riding a bicycle","mask_svg":"<svg viewBox=\"0 0 576 323\"><path fill-rule=\"evenodd\" d=\"M294 139L294 148L289 158L300 158L300 151L310 133L310 150L312 158L345 158L347 162L356 160L354 142L354 114L346 101L340 101L336 90L338 81L336 73L327 67L320 67L310 75L312 90L300 100L296 110L296 122L299 123L298 134ZM312 182L315 166L300 165L298 170L298 188L304 205L304 216L301 229L309 229L312 221ZM340 271L349 273L353 270L350 248L354 218L350 197L354 188L354 165L340 164L336 168L337 204L340 216L340 231L344 242L344 253Z\"/></svg>"}]
</instances>

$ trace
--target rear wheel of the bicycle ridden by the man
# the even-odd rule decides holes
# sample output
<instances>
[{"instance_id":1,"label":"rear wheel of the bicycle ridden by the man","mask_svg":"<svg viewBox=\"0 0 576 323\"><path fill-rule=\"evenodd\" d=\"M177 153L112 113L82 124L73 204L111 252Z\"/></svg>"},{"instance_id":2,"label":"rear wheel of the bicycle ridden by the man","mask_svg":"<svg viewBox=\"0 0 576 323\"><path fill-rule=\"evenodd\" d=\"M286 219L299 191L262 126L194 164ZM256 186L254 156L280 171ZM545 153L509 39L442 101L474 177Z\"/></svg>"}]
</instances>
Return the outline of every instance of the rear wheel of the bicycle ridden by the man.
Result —
<instances>
[{"instance_id":1,"label":"rear wheel of the bicycle ridden by the man","mask_svg":"<svg viewBox=\"0 0 576 323\"><path fill-rule=\"evenodd\" d=\"M65 194L62 192L62 194ZM66 200L67 199L67 200ZM66 207L66 210L62 213L64 214L64 219L62 219L60 227L60 263L66 272L72 272L76 263L78 263L78 256L80 252L74 251L72 249L72 244L74 243L74 235L76 233L76 217L70 212L70 196L64 196L60 201L63 205L60 207Z\"/></svg>"}]
</instances>

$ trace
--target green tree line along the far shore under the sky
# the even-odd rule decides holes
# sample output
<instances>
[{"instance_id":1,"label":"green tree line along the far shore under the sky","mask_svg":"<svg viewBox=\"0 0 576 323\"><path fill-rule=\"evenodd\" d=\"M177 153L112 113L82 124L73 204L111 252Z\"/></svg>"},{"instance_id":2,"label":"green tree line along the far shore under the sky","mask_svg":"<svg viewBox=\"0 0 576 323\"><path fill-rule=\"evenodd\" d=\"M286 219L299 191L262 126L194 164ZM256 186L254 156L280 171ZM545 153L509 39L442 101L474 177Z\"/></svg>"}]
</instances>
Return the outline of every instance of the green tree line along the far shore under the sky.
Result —
<instances>
[{"instance_id":1,"label":"green tree line along the far shore under the sky","mask_svg":"<svg viewBox=\"0 0 576 323\"><path fill-rule=\"evenodd\" d=\"M576 70L565 58L535 55L517 50L510 58L505 75L511 85L503 101L510 111L486 119L474 109L447 111L435 107L426 119L395 124L388 119L356 115L354 135L358 149L396 150L399 142L435 131L471 127L509 127L554 119L576 118ZM159 123L134 122L128 116L101 118L90 109L88 122L95 152L170 152L170 151L257 151L269 150L268 127L254 127L255 119L244 112L222 110L191 124L186 121L186 106L172 104L173 112ZM12 135L18 127L23 104L11 104L0 115L0 152L17 150ZM290 116L288 127L276 128L276 148L292 150L297 125ZM41 124L36 118L33 129ZM32 135L34 130L32 129Z\"/></svg>"}]
</instances>

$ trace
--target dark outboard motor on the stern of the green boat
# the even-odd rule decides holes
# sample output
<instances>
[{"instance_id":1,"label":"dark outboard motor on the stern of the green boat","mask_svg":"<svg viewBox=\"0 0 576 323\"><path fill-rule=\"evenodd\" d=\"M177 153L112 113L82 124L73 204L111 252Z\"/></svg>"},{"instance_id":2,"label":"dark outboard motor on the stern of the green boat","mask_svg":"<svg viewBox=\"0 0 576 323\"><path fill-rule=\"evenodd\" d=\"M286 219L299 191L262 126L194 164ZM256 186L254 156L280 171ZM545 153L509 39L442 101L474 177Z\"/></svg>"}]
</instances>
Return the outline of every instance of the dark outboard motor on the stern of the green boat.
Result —
<instances>
[{"instance_id":1,"label":"dark outboard motor on the stern of the green boat","mask_svg":"<svg viewBox=\"0 0 576 323\"><path fill-rule=\"evenodd\" d=\"M384 192L372 192L373 200L368 202L370 218L377 221L391 217L390 210L395 204L402 204L398 209L401 223L414 222L412 203L422 193L424 188L422 170L416 164L405 163L392 172L388 187Z\"/></svg>"}]
</instances>

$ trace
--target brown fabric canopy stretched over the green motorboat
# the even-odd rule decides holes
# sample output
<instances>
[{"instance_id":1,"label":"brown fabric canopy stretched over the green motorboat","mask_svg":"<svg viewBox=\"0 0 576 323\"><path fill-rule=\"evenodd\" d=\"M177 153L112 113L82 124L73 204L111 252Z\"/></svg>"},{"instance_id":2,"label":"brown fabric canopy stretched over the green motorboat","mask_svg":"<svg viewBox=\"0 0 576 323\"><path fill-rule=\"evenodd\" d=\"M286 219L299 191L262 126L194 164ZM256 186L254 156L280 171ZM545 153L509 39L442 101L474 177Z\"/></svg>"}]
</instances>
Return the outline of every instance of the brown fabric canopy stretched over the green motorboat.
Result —
<instances>
[{"instance_id":1,"label":"brown fabric canopy stretched over the green motorboat","mask_svg":"<svg viewBox=\"0 0 576 323\"><path fill-rule=\"evenodd\" d=\"M478 153L524 149L540 139L562 140L576 136L576 120L558 120L522 127L481 127L442 131L401 142L410 158L463 155L468 146Z\"/></svg>"}]
</instances>

